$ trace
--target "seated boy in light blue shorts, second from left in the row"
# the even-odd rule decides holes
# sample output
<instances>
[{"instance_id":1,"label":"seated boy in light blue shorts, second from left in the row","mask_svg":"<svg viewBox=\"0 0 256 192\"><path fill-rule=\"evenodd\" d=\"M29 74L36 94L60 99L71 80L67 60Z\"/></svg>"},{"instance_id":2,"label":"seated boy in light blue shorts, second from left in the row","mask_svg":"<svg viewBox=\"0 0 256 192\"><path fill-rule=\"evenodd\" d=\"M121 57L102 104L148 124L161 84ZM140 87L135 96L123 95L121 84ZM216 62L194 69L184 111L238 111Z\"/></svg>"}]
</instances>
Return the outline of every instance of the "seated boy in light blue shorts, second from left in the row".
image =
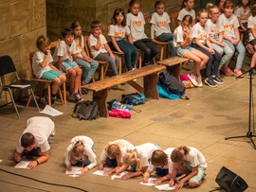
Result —
<instances>
[{"instance_id":1,"label":"seated boy in light blue shorts, second from left in the row","mask_svg":"<svg viewBox=\"0 0 256 192\"><path fill-rule=\"evenodd\" d=\"M53 61L58 69L70 74L69 86L70 95L76 101L82 101L82 95L78 93L81 83L82 69L77 64L77 49L74 42L74 32L71 28L62 30L63 40L57 45L53 54Z\"/></svg>"}]
</instances>

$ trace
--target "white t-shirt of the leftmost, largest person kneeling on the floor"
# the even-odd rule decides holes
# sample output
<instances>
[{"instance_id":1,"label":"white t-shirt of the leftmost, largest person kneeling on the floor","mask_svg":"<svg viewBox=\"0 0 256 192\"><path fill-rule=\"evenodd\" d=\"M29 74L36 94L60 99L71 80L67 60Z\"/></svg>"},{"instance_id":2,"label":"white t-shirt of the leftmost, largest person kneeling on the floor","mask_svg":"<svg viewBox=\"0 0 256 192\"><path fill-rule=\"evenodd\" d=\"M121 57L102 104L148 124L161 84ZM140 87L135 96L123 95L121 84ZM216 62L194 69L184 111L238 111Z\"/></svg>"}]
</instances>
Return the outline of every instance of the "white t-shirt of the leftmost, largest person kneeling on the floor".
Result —
<instances>
[{"instance_id":1,"label":"white t-shirt of the leftmost, largest person kneeling on the floor","mask_svg":"<svg viewBox=\"0 0 256 192\"><path fill-rule=\"evenodd\" d=\"M55 131L55 125L50 118L44 116L34 116L27 120L27 128L22 134L26 132L32 133L36 139L35 148L41 148L42 152L46 152L50 149L47 139L53 131ZM20 137L16 150L17 152L22 153L24 149L25 148L21 146Z\"/></svg>"}]
</instances>

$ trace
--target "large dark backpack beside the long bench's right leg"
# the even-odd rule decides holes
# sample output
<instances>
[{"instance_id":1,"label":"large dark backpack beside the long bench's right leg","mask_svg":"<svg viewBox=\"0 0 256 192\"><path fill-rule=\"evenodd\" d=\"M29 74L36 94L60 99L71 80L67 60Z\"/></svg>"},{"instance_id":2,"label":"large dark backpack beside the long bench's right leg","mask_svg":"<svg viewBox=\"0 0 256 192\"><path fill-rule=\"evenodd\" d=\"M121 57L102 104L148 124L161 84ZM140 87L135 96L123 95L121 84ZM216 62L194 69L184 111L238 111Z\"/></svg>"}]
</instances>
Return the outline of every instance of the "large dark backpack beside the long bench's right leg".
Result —
<instances>
[{"instance_id":1,"label":"large dark backpack beside the long bench's right leg","mask_svg":"<svg viewBox=\"0 0 256 192\"><path fill-rule=\"evenodd\" d=\"M169 94L175 94L179 97L184 96L186 88L174 78L168 71L166 73L160 73L158 79L160 85L162 85Z\"/></svg>"}]
</instances>

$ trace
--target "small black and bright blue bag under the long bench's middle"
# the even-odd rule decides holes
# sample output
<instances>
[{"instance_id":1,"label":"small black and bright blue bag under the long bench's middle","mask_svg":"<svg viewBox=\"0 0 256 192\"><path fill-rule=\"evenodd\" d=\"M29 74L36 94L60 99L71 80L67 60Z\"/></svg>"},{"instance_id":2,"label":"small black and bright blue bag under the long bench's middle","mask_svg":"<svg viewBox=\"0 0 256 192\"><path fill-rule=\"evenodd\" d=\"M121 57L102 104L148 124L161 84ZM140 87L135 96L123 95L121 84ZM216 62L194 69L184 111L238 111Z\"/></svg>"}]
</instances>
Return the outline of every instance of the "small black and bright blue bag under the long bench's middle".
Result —
<instances>
[{"instance_id":1,"label":"small black and bright blue bag under the long bench's middle","mask_svg":"<svg viewBox=\"0 0 256 192\"><path fill-rule=\"evenodd\" d=\"M129 95L121 95L121 103L129 104L129 105L140 105L145 103L144 94L129 94Z\"/></svg>"}]
</instances>

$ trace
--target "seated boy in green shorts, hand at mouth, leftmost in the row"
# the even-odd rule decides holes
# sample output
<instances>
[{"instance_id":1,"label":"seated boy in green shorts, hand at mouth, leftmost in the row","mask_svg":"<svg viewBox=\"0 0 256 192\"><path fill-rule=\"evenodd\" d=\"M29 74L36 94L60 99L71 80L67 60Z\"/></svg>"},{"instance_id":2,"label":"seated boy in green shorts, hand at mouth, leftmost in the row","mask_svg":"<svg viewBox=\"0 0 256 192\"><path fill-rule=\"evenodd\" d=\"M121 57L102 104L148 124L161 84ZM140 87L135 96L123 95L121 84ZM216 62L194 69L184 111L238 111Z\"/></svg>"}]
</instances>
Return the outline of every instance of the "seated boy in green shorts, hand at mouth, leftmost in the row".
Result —
<instances>
[{"instance_id":1,"label":"seated boy in green shorts, hand at mouth, leftmost in the row","mask_svg":"<svg viewBox=\"0 0 256 192\"><path fill-rule=\"evenodd\" d=\"M32 59L33 73L38 79L52 80L51 86L51 104L54 105L58 89L65 81L65 75L62 74L53 64L50 54L50 41L44 35L37 38L36 46L39 49L35 52ZM48 99L46 99L48 101Z\"/></svg>"}]
</instances>

